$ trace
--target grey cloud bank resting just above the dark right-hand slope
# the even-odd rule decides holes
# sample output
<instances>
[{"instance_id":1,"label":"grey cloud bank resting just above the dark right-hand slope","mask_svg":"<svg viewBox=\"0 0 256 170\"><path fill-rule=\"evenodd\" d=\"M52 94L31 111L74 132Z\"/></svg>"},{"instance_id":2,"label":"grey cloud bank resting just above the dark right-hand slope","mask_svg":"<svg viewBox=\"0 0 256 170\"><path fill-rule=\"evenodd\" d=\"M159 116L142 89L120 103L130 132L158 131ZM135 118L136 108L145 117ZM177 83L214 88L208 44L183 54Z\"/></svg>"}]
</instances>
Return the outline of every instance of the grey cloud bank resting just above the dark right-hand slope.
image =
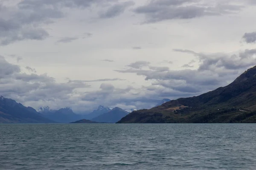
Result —
<instances>
[{"instance_id":1,"label":"grey cloud bank resting just above the dark right-hand slope","mask_svg":"<svg viewBox=\"0 0 256 170\"><path fill-rule=\"evenodd\" d=\"M153 80L151 86L145 87L149 93L159 96L188 97L202 94L232 82L247 68L256 65L256 49L250 49L235 55L204 54L195 51L175 49L174 51L189 53L198 57L198 69L168 70L155 69L147 64L150 70L131 67L117 70L119 73L135 73L144 76L145 80ZM189 64L194 63L192 60ZM133 64L133 63L132 63ZM157 91L159 90L159 93ZM153 96L153 95L152 95Z\"/></svg>"}]
</instances>

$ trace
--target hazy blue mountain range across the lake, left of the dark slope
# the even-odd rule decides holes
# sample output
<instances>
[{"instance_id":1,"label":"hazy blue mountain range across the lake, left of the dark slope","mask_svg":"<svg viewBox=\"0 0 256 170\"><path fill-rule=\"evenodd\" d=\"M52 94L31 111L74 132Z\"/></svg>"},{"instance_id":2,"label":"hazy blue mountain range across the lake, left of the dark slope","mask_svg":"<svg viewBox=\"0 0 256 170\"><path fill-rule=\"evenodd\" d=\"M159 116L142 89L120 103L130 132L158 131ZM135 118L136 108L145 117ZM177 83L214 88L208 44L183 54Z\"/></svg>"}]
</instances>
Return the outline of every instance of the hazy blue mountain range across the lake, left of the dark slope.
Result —
<instances>
[{"instance_id":1,"label":"hazy blue mountain range across the lake, left of the dark slope","mask_svg":"<svg viewBox=\"0 0 256 170\"><path fill-rule=\"evenodd\" d=\"M0 123L115 123L127 114L121 108L111 109L102 105L85 115L76 114L71 108L52 110L48 106L36 111L0 96Z\"/></svg>"}]
</instances>

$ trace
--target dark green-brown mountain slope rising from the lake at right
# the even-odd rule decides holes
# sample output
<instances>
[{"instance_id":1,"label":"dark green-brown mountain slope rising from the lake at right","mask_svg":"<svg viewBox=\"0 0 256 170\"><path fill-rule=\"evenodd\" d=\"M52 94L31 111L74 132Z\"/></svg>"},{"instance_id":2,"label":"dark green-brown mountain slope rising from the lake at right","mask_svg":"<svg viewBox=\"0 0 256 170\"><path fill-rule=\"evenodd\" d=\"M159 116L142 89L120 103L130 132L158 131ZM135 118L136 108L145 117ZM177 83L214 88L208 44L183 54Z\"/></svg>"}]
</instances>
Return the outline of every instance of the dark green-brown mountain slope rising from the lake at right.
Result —
<instances>
[{"instance_id":1,"label":"dark green-brown mountain slope rising from the lake at right","mask_svg":"<svg viewBox=\"0 0 256 170\"><path fill-rule=\"evenodd\" d=\"M256 66L234 82L200 96L134 111L118 123L256 123Z\"/></svg>"}]
</instances>

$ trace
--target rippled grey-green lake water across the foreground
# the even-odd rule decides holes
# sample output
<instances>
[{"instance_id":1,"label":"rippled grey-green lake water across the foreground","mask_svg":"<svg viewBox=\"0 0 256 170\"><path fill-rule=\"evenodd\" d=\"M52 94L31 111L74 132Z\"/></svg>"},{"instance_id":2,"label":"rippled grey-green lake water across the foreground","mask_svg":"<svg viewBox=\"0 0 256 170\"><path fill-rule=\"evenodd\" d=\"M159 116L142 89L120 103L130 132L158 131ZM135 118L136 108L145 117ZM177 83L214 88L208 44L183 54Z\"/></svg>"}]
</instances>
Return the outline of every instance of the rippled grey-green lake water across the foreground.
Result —
<instances>
[{"instance_id":1,"label":"rippled grey-green lake water across the foreground","mask_svg":"<svg viewBox=\"0 0 256 170\"><path fill-rule=\"evenodd\" d=\"M1 170L255 170L256 124L0 125Z\"/></svg>"}]
</instances>

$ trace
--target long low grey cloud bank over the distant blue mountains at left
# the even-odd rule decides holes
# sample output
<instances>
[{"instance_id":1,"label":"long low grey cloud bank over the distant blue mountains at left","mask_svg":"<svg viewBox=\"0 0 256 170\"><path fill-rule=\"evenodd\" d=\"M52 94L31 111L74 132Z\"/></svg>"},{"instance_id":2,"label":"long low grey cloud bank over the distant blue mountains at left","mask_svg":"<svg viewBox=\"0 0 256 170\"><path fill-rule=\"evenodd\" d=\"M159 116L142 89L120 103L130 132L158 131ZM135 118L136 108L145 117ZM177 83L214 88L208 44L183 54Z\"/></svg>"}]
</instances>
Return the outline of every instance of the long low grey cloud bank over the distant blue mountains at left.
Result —
<instances>
[{"instance_id":1,"label":"long low grey cloud bank over the distant blue mountains at left","mask_svg":"<svg viewBox=\"0 0 256 170\"><path fill-rule=\"evenodd\" d=\"M26 69L33 71L30 67ZM0 94L26 106L40 108L49 105L52 108L72 107L74 111L86 111L97 105L132 105L140 109L150 108L156 104L155 98L158 95L147 94L146 88L135 89L132 86L116 88L110 83L102 83L99 90L86 90L91 87L87 82L119 80L124 79L89 81L68 79L66 83L59 83L47 74L22 73L20 66L13 65L0 57Z\"/></svg>"}]
</instances>

